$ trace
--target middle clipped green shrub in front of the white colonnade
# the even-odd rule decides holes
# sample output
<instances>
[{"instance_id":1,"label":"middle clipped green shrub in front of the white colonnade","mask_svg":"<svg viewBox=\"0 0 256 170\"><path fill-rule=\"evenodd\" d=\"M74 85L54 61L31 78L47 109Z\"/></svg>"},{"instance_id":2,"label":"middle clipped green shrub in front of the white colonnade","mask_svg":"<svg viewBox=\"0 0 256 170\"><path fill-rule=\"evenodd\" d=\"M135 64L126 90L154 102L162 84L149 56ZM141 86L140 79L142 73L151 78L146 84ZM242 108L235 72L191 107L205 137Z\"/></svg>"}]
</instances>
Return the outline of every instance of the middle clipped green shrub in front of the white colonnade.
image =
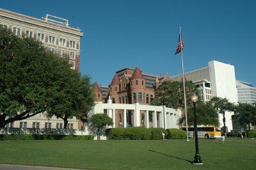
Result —
<instances>
[{"instance_id":1,"label":"middle clipped green shrub in front of the white colonnade","mask_svg":"<svg viewBox=\"0 0 256 170\"><path fill-rule=\"evenodd\" d=\"M151 133L148 128L145 127L129 127L124 131L125 139L131 140L148 140L151 137Z\"/></svg>"}]
</instances>

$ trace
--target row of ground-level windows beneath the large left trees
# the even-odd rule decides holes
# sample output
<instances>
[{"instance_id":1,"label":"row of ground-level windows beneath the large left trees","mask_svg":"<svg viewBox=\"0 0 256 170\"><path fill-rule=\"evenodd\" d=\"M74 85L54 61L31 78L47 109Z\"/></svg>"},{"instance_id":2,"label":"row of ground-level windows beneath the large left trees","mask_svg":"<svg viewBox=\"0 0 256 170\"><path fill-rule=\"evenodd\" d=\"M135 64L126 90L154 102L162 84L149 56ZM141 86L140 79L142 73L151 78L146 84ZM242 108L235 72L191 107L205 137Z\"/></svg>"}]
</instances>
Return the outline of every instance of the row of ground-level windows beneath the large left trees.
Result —
<instances>
[{"instance_id":1,"label":"row of ground-level windows beneath the large left trees","mask_svg":"<svg viewBox=\"0 0 256 170\"><path fill-rule=\"evenodd\" d=\"M6 128L13 128L13 122L5 125ZM73 123L68 123L67 128L73 128ZM20 121L20 128L28 128L28 122ZM40 122L33 122L31 128L40 128ZM44 128L52 128L52 123L45 122ZM56 123L56 128L63 128L63 123Z\"/></svg>"}]
</instances>

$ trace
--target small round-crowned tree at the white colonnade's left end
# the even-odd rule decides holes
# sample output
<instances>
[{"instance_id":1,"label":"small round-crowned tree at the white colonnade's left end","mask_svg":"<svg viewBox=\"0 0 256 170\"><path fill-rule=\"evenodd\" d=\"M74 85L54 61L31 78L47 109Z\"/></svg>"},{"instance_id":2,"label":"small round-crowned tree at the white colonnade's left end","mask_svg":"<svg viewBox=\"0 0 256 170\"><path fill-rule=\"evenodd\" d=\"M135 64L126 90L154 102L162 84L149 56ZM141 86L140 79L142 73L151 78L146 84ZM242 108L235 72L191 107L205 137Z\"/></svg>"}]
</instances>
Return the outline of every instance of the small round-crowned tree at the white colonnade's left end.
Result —
<instances>
[{"instance_id":1,"label":"small round-crowned tree at the white colonnade's left end","mask_svg":"<svg viewBox=\"0 0 256 170\"><path fill-rule=\"evenodd\" d=\"M93 114L89 118L89 129L94 135L97 135L97 140L100 140L100 135L106 131L106 126L113 125L113 120L107 114Z\"/></svg>"}]
</instances>

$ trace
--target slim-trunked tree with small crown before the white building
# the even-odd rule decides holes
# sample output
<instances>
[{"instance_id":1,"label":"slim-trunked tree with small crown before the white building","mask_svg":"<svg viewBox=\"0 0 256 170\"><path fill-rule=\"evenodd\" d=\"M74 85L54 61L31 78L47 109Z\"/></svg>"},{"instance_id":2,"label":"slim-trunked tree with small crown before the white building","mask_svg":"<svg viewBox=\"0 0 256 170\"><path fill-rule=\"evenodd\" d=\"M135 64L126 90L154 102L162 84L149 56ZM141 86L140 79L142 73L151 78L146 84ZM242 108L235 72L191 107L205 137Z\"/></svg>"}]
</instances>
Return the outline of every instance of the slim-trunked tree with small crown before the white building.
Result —
<instances>
[{"instance_id":1,"label":"slim-trunked tree with small crown before the white building","mask_svg":"<svg viewBox=\"0 0 256 170\"><path fill-rule=\"evenodd\" d=\"M216 109L218 112L220 112L223 115L223 125L224 125L223 131L225 133L225 137L227 137L225 112L234 111L234 104L228 102L227 98L220 98L220 97L213 97L210 100L210 102L213 105L214 109Z\"/></svg>"}]
</instances>

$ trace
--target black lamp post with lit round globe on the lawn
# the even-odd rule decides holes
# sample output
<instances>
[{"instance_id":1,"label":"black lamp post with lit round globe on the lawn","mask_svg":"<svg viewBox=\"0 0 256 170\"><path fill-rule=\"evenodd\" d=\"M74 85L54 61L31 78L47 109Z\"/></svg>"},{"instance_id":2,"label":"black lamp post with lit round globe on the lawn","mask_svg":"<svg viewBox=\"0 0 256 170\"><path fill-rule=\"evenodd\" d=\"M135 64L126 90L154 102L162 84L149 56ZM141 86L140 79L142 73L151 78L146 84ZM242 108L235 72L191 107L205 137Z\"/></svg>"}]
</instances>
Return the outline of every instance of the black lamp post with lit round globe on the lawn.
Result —
<instances>
[{"instance_id":1,"label":"black lamp post with lit round globe on the lawn","mask_svg":"<svg viewBox=\"0 0 256 170\"><path fill-rule=\"evenodd\" d=\"M195 146L196 146L196 154L195 154L195 159L193 161L193 164L195 165L202 165L203 162L201 160L201 157L199 155L199 149L198 149L198 134L197 134L197 120L196 120L196 102L198 101L198 96L197 95L192 95L191 101L193 102L193 107L194 107L194 129L195 129Z\"/></svg>"}]
</instances>

